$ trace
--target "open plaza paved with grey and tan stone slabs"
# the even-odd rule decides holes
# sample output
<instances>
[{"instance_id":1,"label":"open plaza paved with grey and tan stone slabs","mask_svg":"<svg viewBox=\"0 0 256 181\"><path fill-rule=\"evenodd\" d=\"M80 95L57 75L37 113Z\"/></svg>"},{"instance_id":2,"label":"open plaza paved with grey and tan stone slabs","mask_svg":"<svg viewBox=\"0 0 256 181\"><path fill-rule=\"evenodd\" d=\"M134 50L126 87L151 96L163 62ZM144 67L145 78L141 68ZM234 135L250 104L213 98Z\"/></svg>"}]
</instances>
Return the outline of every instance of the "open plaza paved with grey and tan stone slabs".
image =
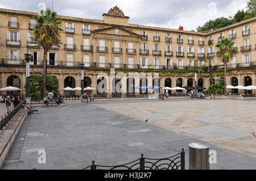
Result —
<instances>
[{"instance_id":1,"label":"open plaza paved with grey and tan stone slabs","mask_svg":"<svg viewBox=\"0 0 256 181\"><path fill-rule=\"evenodd\" d=\"M1 169L83 169L163 158L200 142L217 151L210 169L256 168L255 100L108 100L34 108ZM148 119L146 123L144 120ZM38 163L46 151L46 164Z\"/></svg>"}]
</instances>

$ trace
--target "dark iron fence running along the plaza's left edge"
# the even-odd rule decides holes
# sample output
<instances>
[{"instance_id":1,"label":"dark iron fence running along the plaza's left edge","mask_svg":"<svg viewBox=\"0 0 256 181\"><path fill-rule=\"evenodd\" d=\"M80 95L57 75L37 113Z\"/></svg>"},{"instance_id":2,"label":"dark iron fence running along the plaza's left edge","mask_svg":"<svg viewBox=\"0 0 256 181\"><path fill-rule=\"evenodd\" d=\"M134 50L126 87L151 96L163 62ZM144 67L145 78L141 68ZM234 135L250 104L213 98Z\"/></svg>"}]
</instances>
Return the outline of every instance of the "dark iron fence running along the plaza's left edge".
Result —
<instances>
[{"instance_id":1,"label":"dark iron fence running along the plaza's left edge","mask_svg":"<svg viewBox=\"0 0 256 181\"><path fill-rule=\"evenodd\" d=\"M5 117L2 116L0 122L0 130L3 131L3 128L6 127L7 124L19 113L19 111L24 107L26 104L26 100L23 100L17 107L13 108L9 114L5 114Z\"/></svg>"}]
</instances>

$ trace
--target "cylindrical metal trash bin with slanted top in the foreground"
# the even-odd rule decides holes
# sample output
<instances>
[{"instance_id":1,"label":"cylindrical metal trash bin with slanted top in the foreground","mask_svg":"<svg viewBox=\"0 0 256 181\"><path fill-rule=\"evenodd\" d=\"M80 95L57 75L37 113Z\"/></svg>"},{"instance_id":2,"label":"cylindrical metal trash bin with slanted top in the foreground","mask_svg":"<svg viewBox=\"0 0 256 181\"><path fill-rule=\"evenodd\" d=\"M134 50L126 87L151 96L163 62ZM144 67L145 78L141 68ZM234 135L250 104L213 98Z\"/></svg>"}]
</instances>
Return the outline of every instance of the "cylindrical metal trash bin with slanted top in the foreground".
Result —
<instances>
[{"instance_id":1,"label":"cylindrical metal trash bin with slanted top in the foreground","mask_svg":"<svg viewBox=\"0 0 256 181\"><path fill-rule=\"evenodd\" d=\"M188 145L189 170L209 170L209 147L198 142Z\"/></svg>"}]
</instances>

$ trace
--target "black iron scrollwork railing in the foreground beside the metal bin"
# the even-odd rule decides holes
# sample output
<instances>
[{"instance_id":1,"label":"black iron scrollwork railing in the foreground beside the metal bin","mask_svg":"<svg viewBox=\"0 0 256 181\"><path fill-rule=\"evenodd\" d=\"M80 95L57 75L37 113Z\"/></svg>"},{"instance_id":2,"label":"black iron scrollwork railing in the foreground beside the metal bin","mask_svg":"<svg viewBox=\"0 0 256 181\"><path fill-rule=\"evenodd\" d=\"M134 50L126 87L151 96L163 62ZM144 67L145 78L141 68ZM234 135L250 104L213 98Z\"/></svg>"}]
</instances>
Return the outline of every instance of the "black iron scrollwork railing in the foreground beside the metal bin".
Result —
<instances>
[{"instance_id":1,"label":"black iron scrollwork railing in the foreground beside the metal bin","mask_svg":"<svg viewBox=\"0 0 256 181\"><path fill-rule=\"evenodd\" d=\"M115 166L103 166L95 165L95 161L92 161L92 165L85 167L82 170L185 170L185 151L172 155L167 158L145 158L141 154L141 158L136 159L133 162L125 163L123 165Z\"/></svg>"}]
</instances>

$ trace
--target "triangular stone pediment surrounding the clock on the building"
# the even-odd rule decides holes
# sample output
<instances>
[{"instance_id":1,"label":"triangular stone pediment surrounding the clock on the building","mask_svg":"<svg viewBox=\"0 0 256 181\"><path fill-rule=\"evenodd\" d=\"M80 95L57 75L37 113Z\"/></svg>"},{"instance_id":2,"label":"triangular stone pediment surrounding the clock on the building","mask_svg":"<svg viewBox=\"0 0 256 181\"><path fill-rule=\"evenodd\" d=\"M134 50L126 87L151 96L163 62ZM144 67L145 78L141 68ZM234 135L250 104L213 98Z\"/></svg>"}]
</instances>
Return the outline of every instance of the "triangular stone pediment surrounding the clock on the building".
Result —
<instances>
[{"instance_id":1,"label":"triangular stone pediment surrounding the clock on the building","mask_svg":"<svg viewBox=\"0 0 256 181\"><path fill-rule=\"evenodd\" d=\"M115 29L119 30L119 33L116 34L114 32ZM134 36L134 37L140 37L137 33L131 32L129 30L126 30L125 28L115 26L110 28L103 28L98 30L93 30L92 33L100 33L100 34L107 34L107 35L116 35L116 36Z\"/></svg>"}]
</instances>

